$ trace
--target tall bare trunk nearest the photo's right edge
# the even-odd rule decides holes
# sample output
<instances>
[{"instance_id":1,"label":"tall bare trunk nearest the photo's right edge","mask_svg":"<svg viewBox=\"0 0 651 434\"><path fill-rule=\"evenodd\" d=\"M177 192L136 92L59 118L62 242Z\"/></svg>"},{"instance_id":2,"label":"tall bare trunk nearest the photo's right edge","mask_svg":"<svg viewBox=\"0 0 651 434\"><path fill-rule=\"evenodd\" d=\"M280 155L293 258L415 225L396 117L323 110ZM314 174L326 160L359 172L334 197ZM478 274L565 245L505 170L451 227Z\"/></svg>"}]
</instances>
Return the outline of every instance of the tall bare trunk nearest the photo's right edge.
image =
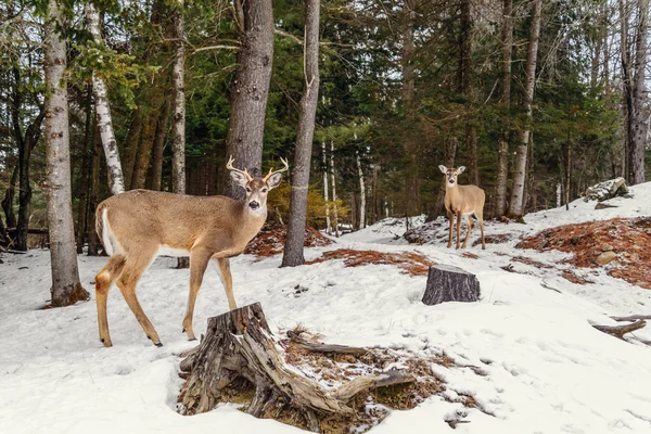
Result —
<instances>
[{"instance_id":1,"label":"tall bare trunk nearest the photo's right edge","mask_svg":"<svg viewBox=\"0 0 651 434\"><path fill-rule=\"evenodd\" d=\"M630 138L630 183L644 182L644 149L649 129L649 111L644 73L649 53L649 0L637 1L637 29L635 44L635 76L633 78L633 113Z\"/></svg>"}]
</instances>

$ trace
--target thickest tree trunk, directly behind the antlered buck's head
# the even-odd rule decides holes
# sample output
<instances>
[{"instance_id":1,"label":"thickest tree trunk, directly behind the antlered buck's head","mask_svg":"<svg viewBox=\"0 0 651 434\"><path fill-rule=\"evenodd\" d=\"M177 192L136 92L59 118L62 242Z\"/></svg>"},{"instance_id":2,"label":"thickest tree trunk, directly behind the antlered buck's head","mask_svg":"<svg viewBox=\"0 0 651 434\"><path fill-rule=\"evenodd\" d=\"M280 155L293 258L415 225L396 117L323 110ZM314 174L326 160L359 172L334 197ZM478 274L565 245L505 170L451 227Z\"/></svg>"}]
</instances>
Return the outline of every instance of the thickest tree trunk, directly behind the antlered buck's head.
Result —
<instances>
[{"instance_id":1,"label":"thickest tree trunk, directly behind the antlered buck's head","mask_svg":"<svg viewBox=\"0 0 651 434\"><path fill-rule=\"evenodd\" d=\"M238 68L231 89L231 114L226 138L226 155L233 156L238 167L261 175L263 136L271 64L273 61L273 11L271 0L235 2L242 37ZM244 197L225 171L224 194Z\"/></svg>"}]
</instances>

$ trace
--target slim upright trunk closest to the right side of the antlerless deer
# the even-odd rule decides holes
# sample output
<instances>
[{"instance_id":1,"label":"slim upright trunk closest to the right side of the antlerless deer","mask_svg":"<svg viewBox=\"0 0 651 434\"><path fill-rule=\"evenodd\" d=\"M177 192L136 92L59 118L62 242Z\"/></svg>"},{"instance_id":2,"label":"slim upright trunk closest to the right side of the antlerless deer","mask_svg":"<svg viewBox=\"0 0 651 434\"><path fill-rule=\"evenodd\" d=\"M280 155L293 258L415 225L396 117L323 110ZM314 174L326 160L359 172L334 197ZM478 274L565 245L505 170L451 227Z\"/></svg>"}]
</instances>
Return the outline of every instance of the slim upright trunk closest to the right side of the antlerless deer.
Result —
<instances>
[{"instance_id":1,"label":"slim upright trunk closest to the right side of the antlerless deer","mask_svg":"<svg viewBox=\"0 0 651 434\"><path fill-rule=\"evenodd\" d=\"M513 52L513 0L503 0L501 26L501 87L500 100L505 111L511 106L511 54ZM509 125L505 119L505 132L498 148L497 191L495 214L501 217L507 212L507 181L509 179Z\"/></svg>"}]
</instances>

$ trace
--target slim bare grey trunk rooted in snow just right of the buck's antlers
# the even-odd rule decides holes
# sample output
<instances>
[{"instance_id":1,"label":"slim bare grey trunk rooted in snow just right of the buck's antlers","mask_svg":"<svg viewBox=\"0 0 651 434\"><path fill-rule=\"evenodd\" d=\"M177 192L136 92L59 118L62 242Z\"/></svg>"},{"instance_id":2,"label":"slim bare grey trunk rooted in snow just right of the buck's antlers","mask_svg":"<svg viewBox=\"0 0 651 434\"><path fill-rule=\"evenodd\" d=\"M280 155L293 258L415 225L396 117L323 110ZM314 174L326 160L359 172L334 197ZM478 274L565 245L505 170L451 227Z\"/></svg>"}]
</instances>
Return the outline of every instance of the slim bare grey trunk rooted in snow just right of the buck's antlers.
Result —
<instances>
[{"instance_id":1,"label":"slim bare grey trunk rooted in snow just right of the buck's antlers","mask_svg":"<svg viewBox=\"0 0 651 434\"><path fill-rule=\"evenodd\" d=\"M292 170L292 199L288 238L281 267L303 265L305 224L307 220L307 192L309 188L309 167L311 162L312 138L317 103L319 101L319 0L305 2L305 42L304 42L304 91L298 113L296 151Z\"/></svg>"}]
</instances>

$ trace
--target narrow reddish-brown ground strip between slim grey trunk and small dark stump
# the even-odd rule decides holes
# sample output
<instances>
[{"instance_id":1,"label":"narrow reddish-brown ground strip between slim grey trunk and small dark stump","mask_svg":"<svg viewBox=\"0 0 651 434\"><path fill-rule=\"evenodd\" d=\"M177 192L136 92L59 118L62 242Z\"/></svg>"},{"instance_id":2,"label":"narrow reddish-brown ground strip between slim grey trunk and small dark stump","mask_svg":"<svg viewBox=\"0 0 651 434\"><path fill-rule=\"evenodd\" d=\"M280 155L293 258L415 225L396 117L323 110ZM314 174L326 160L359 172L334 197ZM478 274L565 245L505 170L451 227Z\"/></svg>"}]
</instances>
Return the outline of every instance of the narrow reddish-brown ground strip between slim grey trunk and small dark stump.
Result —
<instances>
[{"instance_id":1,"label":"narrow reddish-brown ground strip between slim grey trunk and small dark stump","mask_svg":"<svg viewBox=\"0 0 651 434\"><path fill-rule=\"evenodd\" d=\"M425 255L417 252L384 253L352 248L326 252L320 258L305 264L318 264L331 259L344 259L346 267L359 267L368 264L397 265L403 273L410 276L427 276L430 267L434 265Z\"/></svg>"}]
</instances>

